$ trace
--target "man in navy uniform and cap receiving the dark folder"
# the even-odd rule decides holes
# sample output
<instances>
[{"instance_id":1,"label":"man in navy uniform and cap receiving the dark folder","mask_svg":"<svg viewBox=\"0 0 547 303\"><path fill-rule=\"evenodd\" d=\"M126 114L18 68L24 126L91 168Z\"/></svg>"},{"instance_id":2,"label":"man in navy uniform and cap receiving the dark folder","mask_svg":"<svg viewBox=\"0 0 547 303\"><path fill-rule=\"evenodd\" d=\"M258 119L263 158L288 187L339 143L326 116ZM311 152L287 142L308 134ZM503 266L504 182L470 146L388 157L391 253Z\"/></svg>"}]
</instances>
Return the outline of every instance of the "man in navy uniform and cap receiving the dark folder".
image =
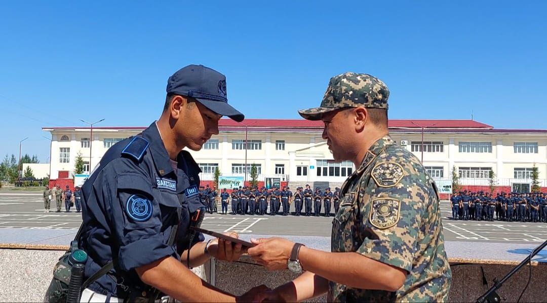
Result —
<instances>
[{"instance_id":1,"label":"man in navy uniform and cap receiving the dark folder","mask_svg":"<svg viewBox=\"0 0 547 303\"><path fill-rule=\"evenodd\" d=\"M107 264L113 268L89 284L82 301L154 301L164 294L179 301L237 299L187 267L187 259L192 267L241 255L240 244L205 243L201 234L191 241L189 230L191 216L203 207L201 170L183 148L200 150L218 134L222 115L244 118L228 105L225 83L223 74L203 66L174 73L160 119L109 148L83 185L77 238L89 256L84 281Z\"/></svg>"}]
</instances>

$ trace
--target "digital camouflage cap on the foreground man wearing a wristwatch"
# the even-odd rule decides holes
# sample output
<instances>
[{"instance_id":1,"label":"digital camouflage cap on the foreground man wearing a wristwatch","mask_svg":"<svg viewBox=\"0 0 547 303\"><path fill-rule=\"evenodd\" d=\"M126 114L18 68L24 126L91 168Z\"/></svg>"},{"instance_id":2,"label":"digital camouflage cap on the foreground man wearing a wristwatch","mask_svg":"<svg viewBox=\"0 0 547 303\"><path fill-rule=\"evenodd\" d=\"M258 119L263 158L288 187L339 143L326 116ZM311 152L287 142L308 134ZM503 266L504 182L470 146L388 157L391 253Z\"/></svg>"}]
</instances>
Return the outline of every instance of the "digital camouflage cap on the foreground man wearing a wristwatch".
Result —
<instances>
[{"instance_id":1,"label":"digital camouflage cap on the foreground man wearing a wristwatch","mask_svg":"<svg viewBox=\"0 0 547 303\"><path fill-rule=\"evenodd\" d=\"M368 107L388 109L389 89L369 74L344 73L330 78L321 106L299 110L302 118L320 120L324 113L339 108Z\"/></svg>"}]
</instances>

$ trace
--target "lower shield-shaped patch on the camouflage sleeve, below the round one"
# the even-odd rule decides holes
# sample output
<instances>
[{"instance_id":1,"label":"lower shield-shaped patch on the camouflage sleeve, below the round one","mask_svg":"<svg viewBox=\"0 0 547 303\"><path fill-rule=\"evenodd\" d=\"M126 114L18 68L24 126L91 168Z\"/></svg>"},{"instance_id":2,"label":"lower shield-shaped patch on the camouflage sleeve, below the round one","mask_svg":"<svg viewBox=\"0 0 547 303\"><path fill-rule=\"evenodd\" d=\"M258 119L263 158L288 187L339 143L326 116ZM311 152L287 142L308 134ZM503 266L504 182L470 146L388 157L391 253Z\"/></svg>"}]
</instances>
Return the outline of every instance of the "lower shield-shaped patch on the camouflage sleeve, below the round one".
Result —
<instances>
[{"instance_id":1,"label":"lower shield-shaped patch on the camouflage sleeve, below the round one","mask_svg":"<svg viewBox=\"0 0 547 303\"><path fill-rule=\"evenodd\" d=\"M399 222L401 202L392 198L377 198L370 203L370 224L379 228L391 228Z\"/></svg>"}]
</instances>

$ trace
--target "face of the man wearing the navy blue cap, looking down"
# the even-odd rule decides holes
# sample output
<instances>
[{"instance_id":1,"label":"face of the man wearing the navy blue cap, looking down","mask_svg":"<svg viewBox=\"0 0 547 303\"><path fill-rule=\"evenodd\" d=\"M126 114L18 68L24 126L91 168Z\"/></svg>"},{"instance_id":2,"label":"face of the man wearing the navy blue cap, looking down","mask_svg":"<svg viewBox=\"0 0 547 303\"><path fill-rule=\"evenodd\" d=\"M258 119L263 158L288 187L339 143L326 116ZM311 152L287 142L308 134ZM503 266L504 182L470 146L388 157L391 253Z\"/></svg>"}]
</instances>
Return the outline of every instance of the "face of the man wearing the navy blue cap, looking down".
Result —
<instances>
[{"instance_id":1,"label":"face of the man wearing the navy blue cap, looking down","mask_svg":"<svg viewBox=\"0 0 547 303\"><path fill-rule=\"evenodd\" d=\"M200 150L213 135L218 135L218 121L222 117L201 103L189 102L181 108L177 121L177 135L191 150Z\"/></svg>"}]
</instances>

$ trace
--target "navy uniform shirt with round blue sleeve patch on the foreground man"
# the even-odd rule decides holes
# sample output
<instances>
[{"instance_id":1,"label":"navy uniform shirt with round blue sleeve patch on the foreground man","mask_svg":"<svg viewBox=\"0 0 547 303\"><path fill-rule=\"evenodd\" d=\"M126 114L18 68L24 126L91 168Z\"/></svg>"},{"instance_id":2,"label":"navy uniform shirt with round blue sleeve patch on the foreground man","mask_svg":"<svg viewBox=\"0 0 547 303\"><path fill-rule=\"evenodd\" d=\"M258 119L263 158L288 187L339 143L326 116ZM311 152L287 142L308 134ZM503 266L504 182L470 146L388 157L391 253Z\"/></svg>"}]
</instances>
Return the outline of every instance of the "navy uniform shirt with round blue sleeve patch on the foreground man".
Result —
<instances>
[{"instance_id":1,"label":"navy uniform shirt with round blue sleeve patch on the foreground man","mask_svg":"<svg viewBox=\"0 0 547 303\"><path fill-rule=\"evenodd\" d=\"M149 145L137 148L141 154L130 146L138 137L110 147L82 187L79 246L89 255L84 280L116 257L118 265L89 288L119 298L127 298L129 287L148 288L136 267L166 256L180 259L189 244L190 213L202 206L197 194L201 170L192 156L182 151L177 161L171 161L155 123L142 132L142 138ZM136 140L141 147L146 141ZM168 246L177 224L177 239ZM203 235L195 241L203 241Z\"/></svg>"}]
</instances>

